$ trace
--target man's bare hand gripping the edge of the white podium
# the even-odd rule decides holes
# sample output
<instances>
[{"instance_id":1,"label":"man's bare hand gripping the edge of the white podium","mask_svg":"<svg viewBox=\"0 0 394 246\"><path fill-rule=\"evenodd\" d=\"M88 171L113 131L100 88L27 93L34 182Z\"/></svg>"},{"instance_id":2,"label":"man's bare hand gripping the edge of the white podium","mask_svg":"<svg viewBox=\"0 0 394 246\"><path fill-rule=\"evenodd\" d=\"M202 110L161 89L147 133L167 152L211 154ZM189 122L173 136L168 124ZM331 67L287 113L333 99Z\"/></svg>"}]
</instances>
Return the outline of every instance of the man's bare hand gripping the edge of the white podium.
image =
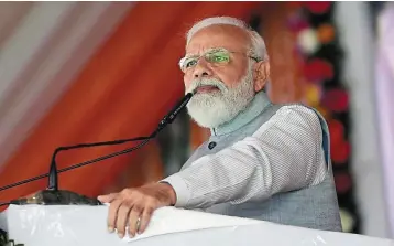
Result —
<instances>
[{"instance_id":1,"label":"man's bare hand gripping the edge of the white podium","mask_svg":"<svg viewBox=\"0 0 394 246\"><path fill-rule=\"evenodd\" d=\"M102 203L110 203L108 214L108 229L118 231L119 237L125 234L129 224L129 235L135 236L145 231L154 210L174 205L176 194L174 189L166 183L153 183L141 188L124 189L119 193L100 195Z\"/></svg>"}]
</instances>

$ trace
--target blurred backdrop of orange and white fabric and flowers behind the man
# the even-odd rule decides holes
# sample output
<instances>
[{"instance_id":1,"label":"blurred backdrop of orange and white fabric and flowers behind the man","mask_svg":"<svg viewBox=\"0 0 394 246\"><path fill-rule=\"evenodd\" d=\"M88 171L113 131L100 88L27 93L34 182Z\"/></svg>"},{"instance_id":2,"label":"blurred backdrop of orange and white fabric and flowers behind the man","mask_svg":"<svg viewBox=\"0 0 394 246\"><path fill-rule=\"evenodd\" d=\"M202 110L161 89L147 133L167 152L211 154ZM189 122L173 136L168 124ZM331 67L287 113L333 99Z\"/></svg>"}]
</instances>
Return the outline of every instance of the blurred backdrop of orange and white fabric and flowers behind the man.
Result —
<instances>
[{"instance_id":1,"label":"blurred backdrop of orange and white fabric and flowers behind the man","mask_svg":"<svg viewBox=\"0 0 394 246\"><path fill-rule=\"evenodd\" d=\"M385 2L0 2L0 186L48 171L55 148L150 135L184 95L185 32L211 15L264 38L275 103L316 107L331 132L343 228L394 238L394 6ZM59 174L85 195L179 170L209 132L186 111L131 154ZM59 153L66 168L131 147ZM9 201L45 179L0 192Z\"/></svg>"}]
</instances>

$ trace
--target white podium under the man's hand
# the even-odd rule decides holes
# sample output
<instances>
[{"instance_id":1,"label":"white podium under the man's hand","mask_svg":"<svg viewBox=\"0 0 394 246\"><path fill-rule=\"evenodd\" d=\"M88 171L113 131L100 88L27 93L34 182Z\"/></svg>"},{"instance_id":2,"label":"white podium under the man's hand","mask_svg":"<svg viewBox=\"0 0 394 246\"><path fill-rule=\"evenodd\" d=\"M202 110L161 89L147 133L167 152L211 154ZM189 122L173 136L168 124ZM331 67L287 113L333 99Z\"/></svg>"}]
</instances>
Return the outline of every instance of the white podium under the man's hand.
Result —
<instances>
[{"instance_id":1,"label":"white podium under the man's hand","mask_svg":"<svg viewBox=\"0 0 394 246\"><path fill-rule=\"evenodd\" d=\"M119 238L107 231L108 206L10 205L0 228L24 246L394 246L369 236L308 229L249 218L162 207L146 231Z\"/></svg>"}]
</instances>

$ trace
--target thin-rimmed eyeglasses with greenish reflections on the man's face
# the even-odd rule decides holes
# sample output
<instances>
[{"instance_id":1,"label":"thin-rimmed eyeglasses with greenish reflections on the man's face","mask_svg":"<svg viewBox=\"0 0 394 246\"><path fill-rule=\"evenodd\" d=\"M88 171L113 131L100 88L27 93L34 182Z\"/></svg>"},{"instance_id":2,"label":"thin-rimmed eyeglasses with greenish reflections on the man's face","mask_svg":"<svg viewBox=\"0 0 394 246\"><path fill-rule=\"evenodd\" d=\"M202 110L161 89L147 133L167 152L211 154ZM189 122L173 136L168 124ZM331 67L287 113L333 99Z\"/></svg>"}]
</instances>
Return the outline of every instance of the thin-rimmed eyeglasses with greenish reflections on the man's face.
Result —
<instances>
[{"instance_id":1,"label":"thin-rimmed eyeglasses with greenish reflections on the man's face","mask_svg":"<svg viewBox=\"0 0 394 246\"><path fill-rule=\"evenodd\" d=\"M204 53L203 55L194 55L194 56L185 56L179 61L179 67L182 69L182 72L187 73L188 71L190 71L191 68L194 68L199 58L204 57L205 61L207 61L208 63L212 64L212 65L226 65L229 64L231 61L231 54L232 53L240 53L240 54L244 54L241 52L231 52L228 51L226 49L214 49L210 50L206 53ZM247 54L244 54L247 55ZM256 56L251 56L251 55L247 55L249 58L254 60L255 62L260 62L261 58L256 57Z\"/></svg>"}]
</instances>

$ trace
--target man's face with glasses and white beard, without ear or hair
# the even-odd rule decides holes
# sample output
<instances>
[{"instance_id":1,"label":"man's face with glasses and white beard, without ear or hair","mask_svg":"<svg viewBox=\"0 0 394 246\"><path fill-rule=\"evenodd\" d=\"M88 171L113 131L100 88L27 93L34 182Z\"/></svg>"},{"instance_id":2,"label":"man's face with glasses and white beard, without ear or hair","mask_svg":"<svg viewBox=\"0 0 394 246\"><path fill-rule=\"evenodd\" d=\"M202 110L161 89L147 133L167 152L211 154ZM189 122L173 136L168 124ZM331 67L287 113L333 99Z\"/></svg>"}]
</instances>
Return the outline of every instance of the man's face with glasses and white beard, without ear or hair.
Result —
<instances>
[{"instance_id":1,"label":"man's face with glasses and white beard, without ear or hair","mask_svg":"<svg viewBox=\"0 0 394 246\"><path fill-rule=\"evenodd\" d=\"M182 61L186 93L196 90L188 113L201 127L218 127L236 117L255 94L250 39L231 25L198 31Z\"/></svg>"}]
</instances>

